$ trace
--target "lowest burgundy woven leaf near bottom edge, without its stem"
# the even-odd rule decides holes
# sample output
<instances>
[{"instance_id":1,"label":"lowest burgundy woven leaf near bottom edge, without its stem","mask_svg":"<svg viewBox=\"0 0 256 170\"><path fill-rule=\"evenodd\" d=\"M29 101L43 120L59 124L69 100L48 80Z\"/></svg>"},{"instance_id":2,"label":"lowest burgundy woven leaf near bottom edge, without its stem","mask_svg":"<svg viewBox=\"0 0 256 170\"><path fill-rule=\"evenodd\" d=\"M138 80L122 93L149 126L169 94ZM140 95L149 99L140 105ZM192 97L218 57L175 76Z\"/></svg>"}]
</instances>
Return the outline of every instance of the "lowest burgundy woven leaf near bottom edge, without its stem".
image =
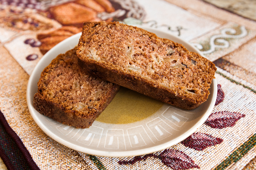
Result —
<instances>
[{"instance_id":1,"label":"lowest burgundy woven leaf near bottom edge, without its stem","mask_svg":"<svg viewBox=\"0 0 256 170\"><path fill-rule=\"evenodd\" d=\"M174 170L200 168L188 155L174 149L165 149L160 153L159 159L162 160L164 165L169 166Z\"/></svg>"}]
</instances>

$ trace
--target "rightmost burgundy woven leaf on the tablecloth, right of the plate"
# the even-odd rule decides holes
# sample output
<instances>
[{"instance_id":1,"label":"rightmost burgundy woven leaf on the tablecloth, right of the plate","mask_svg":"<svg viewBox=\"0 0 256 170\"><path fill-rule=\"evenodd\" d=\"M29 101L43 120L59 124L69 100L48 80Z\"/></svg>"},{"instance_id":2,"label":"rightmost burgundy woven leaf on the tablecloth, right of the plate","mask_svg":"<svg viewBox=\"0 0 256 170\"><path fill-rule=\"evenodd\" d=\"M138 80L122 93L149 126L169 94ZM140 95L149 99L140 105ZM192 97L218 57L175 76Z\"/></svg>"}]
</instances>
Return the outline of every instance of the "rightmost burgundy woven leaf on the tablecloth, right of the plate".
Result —
<instances>
[{"instance_id":1,"label":"rightmost burgundy woven leaf on the tablecloth, right of the plate","mask_svg":"<svg viewBox=\"0 0 256 170\"><path fill-rule=\"evenodd\" d=\"M244 117L244 114L236 112L221 111L212 113L204 124L217 129L232 127L236 122Z\"/></svg>"}]
</instances>

